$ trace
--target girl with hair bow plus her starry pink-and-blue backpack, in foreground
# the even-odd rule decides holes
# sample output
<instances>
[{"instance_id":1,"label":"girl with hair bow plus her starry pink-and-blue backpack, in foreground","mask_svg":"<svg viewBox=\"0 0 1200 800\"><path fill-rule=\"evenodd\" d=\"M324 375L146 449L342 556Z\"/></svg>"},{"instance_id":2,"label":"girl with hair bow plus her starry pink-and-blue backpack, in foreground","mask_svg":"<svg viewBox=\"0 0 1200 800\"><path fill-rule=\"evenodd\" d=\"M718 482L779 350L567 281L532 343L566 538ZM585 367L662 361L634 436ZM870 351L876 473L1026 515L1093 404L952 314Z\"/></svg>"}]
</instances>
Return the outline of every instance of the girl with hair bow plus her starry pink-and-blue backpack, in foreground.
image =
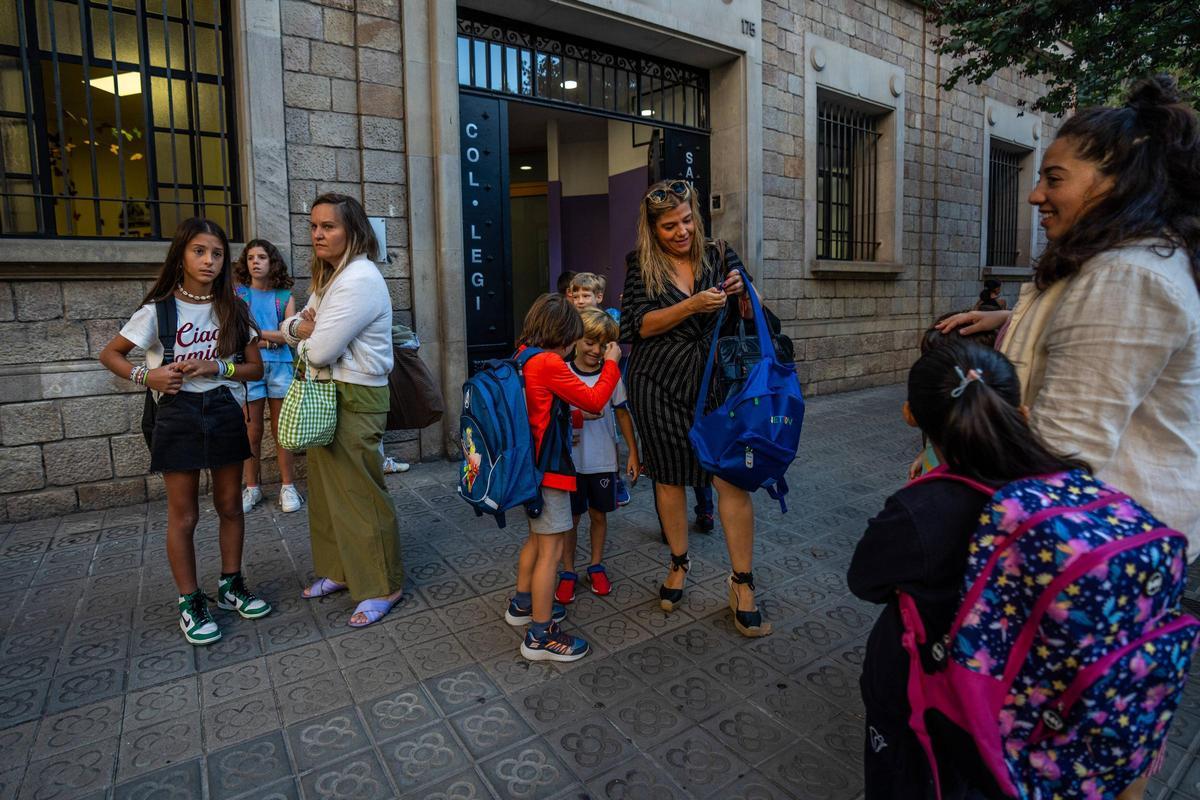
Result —
<instances>
[{"instance_id":1,"label":"girl with hair bow plus her starry pink-and-blue backpack, in foreground","mask_svg":"<svg viewBox=\"0 0 1200 800\"><path fill-rule=\"evenodd\" d=\"M1187 540L1051 451L1012 363L967 341L908 373L941 467L874 517L847 581L866 644L866 798L1140 796L1200 622Z\"/></svg>"}]
</instances>

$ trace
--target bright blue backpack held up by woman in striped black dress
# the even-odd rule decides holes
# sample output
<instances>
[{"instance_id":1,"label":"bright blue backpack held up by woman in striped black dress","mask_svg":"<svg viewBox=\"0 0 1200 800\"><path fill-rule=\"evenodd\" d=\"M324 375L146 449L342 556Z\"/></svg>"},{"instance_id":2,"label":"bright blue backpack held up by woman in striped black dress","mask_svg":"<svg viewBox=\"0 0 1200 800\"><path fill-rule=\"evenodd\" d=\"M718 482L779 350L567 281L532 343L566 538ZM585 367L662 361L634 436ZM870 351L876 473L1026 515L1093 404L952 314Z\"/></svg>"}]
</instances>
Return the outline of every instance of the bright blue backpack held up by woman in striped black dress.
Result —
<instances>
[{"instance_id":1,"label":"bright blue backpack held up by woman in striped black dress","mask_svg":"<svg viewBox=\"0 0 1200 800\"><path fill-rule=\"evenodd\" d=\"M733 486L754 492L767 489L787 511L784 474L796 459L804 422L804 397L796 368L780 363L768 335L762 305L744 270L742 282L754 307L758 351L762 359L750 368L745 384L730 395L712 413L704 414L708 386L715 367L716 341L721 336L725 308L716 318L713 343L708 349L704 379L696 397L696 416L688 438L701 467Z\"/></svg>"}]
</instances>

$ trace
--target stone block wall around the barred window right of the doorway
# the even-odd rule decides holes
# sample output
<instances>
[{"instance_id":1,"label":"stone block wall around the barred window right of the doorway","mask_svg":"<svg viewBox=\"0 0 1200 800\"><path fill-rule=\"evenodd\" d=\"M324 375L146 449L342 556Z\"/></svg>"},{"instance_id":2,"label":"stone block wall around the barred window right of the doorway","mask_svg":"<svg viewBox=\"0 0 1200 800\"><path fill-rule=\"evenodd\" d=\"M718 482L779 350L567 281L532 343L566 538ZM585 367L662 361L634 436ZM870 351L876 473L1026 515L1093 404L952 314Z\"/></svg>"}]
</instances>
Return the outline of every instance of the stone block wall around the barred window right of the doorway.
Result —
<instances>
[{"instance_id":1,"label":"stone block wall around the barred window right of the doorway","mask_svg":"<svg viewBox=\"0 0 1200 800\"><path fill-rule=\"evenodd\" d=\"M1002 73L944 91L937 30L904 0L764 0L762 287L796 339L805 390L846 391L905 380L918 336L940 314L970 308L983 288L980 221L984 97L1016 106L1042 86ZM904 271L830 278L804 264L805 32L905 71ZM1043 122L1052 137L1054 119ZM1018 278L1004 296L1016 299ZM803 361L802 361L803 360Z\"/></svg>"}]
</instances>

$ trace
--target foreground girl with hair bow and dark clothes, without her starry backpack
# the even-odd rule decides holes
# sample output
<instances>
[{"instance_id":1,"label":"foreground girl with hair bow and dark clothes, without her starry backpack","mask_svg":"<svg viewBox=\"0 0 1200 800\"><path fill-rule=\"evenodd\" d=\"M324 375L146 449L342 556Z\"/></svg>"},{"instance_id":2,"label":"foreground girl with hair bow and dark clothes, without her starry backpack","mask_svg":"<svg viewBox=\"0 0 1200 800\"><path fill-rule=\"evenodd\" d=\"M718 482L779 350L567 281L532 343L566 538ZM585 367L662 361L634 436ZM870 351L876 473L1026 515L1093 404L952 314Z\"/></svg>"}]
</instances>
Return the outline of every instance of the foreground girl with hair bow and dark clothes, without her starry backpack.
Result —
<instances>
[{"instance_id":1,"label":"foreground girl with hair bow and dark clothes, without her starry backpack","mask_svg":"<svg viewBox=\"0 0 1200 800\"><path fill-rule=\"evenodd\" d=\"M920 428L937 458L958 475L995 486L1087 464L1056 452L1030 427L1016 371L1003 355L966 339L930 348L908 372L905 421ZM900 636L896 590L917 602L929 640L950 627L959 607L967 545L989 498L958 481L926 481L900 489L868 524L854 549L847 583L858 597L887 603L866 642L859 686L866 709L864 777L868 800L926 796L929 762L908 727L908 656ZM937 738L942 796L978 796L990 781L973 746L954 750ZM942 748L946 752L942 752ZM944 756L944 757L943 757ZM989 794L989 796L991 796Z\"/></svg>"}]
</instances>

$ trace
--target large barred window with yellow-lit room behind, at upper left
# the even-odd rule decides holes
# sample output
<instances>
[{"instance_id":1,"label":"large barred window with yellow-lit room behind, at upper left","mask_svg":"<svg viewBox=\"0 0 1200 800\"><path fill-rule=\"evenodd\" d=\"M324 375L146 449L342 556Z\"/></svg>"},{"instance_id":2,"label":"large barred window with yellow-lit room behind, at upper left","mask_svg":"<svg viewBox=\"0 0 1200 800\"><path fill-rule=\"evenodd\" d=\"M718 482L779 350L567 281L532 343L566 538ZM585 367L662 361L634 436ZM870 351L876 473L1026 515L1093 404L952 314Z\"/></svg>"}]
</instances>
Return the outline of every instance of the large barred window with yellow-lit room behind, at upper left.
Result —
<instances>
[{"instance_id":1,"label":"large barred window with yellow-lit room behind, at upper left","mask_svg":"<svg viewBox=\"0 0 1200 800\"><path fill-rule=\"evenodd\" d=\"M0 235L241 239L230 0L0 0Z\"/></svg>"}]
</instances>

